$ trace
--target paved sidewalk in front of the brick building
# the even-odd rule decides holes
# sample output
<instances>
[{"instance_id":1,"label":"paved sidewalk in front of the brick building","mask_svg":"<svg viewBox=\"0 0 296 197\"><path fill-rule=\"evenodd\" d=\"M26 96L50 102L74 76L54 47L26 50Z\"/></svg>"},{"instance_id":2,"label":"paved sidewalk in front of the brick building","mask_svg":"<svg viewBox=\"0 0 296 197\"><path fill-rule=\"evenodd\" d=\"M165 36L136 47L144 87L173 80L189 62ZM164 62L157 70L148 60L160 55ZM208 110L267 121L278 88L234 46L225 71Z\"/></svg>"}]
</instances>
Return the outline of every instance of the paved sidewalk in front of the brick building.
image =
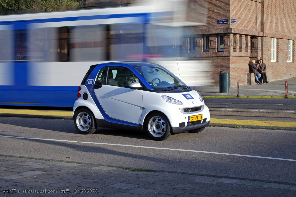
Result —
<instances>
[{"instance_id":1,"label":"paved sidewalk in front of the brick building","mask_svg":"<svg viewBox=\"0 0 296 197\"><path fill-rule=\"evenodd\" d=\"M288 94L289 97L296 96L296 77L290 79L282 79L279 81L271 81L268 84L263 85L240 85L239 86L239 95L241 97L258 97L262 98L274 98L281 97L284 98L286 95L285 81L288 81ZM195 87L197 92L204 97L237 97L237 84L235 87L229 89L229 93L219 93L219 87Z\"/></svg>"}]
</instances>

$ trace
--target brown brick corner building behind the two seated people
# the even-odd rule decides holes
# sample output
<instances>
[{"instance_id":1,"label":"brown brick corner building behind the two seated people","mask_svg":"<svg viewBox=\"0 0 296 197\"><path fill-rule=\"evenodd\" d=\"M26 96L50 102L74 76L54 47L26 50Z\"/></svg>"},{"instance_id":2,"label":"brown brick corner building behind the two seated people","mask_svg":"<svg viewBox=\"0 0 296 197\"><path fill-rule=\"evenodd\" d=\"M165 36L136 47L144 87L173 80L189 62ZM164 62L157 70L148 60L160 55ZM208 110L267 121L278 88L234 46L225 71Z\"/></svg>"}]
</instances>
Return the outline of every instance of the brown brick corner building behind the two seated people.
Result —
<instances>
[{"instance_id":1,"label":"brown brick corner building behind the two seated people","mask_svg":"<svg viewBox=\"0 0 296 197\"><path fill-rule=\"evenodd\" d=\"M215 86L221 70L230 71L231 86L255 84L248 63L260 58L268 81L296 76L295 0L190 0L187 12L203 25L185 29L184 55L212 61Z\"/></svg>"}]
</instances>

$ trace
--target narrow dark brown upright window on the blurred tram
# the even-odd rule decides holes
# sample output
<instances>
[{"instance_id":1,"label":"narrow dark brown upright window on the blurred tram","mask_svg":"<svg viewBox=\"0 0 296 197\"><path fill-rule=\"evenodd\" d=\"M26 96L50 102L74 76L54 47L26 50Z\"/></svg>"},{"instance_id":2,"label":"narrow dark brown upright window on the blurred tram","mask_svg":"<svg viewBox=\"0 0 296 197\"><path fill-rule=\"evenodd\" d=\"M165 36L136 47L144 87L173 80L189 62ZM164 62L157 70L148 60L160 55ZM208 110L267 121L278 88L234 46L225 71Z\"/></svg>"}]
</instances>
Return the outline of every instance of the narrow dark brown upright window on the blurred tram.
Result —
<instances>
[{"instance_id":1,"label":"narrow dark brown upright window on the blurred tram","mask_svg":"<svg viewBox=\"0 0 296 197\"><path fill-rule=\"evenodd\" d=\"M70 60L70 29L69 27L59 28L59 61Z\"/></svg>"}]
</instances>

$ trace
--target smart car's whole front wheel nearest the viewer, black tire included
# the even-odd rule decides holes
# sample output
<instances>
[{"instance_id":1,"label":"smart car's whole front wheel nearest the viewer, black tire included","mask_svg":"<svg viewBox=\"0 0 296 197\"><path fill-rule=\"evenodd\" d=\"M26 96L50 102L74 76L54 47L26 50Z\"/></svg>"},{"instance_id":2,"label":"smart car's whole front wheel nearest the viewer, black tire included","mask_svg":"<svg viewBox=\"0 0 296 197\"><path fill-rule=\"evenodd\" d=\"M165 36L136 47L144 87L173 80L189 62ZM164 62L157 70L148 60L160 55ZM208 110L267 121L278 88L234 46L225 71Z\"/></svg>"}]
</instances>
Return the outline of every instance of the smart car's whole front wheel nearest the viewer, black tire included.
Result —
<instances>
[{"instance_id":1,"label":"smart car's whole front wheel nearest the viewer, black tire included","mask_svg":"<svg viewBox=\"0 0 296 197\"><path fill-rule=\"evenodd\" d=\"M162 114L152 113L146 121L146 131L148 135L158 141L168 139L170 137L171 126L168 118Z\"/></svg>"}]
</instances>

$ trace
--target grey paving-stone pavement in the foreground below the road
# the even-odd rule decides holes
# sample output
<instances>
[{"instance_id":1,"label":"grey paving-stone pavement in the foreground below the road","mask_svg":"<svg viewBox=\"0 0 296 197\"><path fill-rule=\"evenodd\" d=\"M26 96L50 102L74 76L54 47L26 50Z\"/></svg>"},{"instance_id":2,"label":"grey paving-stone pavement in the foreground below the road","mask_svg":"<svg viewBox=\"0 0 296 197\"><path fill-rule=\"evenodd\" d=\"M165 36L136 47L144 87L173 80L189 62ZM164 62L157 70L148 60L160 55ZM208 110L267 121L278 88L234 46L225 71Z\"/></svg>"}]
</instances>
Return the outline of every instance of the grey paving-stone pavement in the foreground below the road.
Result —
<instances>
[{"instance_id":1,"label":"grey paving-stone pavement in the foreground below the road","mask_svg":"<svg viewBox=\"0 0 296 197\"><path fill-rule=\"evenodd\" d=\"M296 186L0 156L0 196L292 197Z\"/></svg>"}]
</instances>

